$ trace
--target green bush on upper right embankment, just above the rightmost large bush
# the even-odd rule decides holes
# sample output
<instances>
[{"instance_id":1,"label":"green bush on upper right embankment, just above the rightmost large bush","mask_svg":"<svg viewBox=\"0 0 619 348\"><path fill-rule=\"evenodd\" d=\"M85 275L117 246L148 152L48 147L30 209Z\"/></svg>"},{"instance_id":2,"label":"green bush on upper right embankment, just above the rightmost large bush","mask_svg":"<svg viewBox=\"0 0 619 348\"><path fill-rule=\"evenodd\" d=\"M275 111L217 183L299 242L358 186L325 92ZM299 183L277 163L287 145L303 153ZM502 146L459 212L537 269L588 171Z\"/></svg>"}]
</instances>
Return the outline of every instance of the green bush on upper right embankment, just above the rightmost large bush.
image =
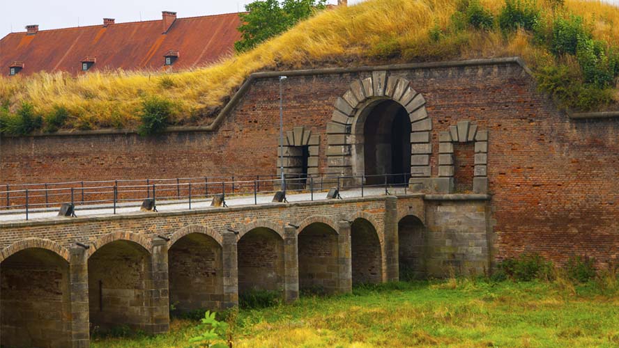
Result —
<instances>
[{"instance_id":1,"label":"green bush on upper right embankment, just above the rightmost large bush","mask_svg":"<svg viewBox=\"0 0 619 348\"><path fill-rule=\"evenodd\" d=\"M552 24L550 50L556 56L576 55L579 40L588 40L591 37L591 32L583 25L583 17L556 17Z\"/></svg>"}]
</instances>

